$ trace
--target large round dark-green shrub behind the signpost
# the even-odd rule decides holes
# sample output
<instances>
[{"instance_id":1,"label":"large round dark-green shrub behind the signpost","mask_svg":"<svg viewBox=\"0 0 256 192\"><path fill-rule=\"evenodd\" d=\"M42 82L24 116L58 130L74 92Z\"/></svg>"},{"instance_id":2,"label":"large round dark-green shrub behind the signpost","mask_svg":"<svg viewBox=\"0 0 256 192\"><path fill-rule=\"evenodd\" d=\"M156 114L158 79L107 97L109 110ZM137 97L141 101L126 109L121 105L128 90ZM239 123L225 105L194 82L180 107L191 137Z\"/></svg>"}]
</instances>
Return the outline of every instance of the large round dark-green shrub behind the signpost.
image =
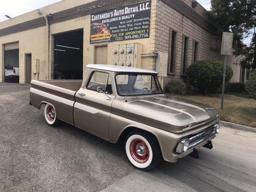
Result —
<instances>
[{"instance_id":1,"label":"large round dark-green shrub behind the signpost","mask_svg":"<svg viewBox=\"0 0 256 192\"><path fill-rule=\"evenodd\" d=\"M187 69L188 81L201 93L218 93L222 85L224 63L217 60L197 60ZM233 75L232 68L227 66L226 82Z\"/></svg>"}]
</instances>

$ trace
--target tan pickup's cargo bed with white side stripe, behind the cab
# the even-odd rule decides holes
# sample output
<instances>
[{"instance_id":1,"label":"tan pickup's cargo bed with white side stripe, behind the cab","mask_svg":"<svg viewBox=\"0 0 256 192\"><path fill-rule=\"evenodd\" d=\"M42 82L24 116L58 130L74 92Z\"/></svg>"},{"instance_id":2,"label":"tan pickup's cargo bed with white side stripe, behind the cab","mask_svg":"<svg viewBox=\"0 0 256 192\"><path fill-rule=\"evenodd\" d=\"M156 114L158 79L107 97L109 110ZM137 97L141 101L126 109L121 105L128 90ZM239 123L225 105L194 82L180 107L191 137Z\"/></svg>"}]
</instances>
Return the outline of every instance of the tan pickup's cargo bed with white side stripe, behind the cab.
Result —
<instances>
[{"instance_id":1,"label":"tan pickup's cargo bed with white side stripe, behind the cab","mask_svg":"<svg viewBox=\"0 0 256 192\"><path fill-rule=\"evenodd\" d=\"M82 82L82 80L32 80L30 103L38 109L46 103L52 104L60 120L73 124L75 93L81 88Z\"/></svg>"}]
</instances>

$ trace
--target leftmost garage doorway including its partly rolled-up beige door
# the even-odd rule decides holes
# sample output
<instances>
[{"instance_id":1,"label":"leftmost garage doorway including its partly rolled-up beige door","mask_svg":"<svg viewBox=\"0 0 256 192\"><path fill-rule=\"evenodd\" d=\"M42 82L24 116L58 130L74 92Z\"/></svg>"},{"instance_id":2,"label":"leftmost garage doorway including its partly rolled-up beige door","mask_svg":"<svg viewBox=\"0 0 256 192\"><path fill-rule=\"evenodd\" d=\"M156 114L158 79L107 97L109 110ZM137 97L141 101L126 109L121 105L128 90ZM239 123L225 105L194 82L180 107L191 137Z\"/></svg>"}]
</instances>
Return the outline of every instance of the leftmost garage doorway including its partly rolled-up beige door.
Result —
<instances>
[{"instance_id":1,"label":"leftmost garage doorway including its partly rolled-up beige door","mask_svg":"<svg viewBox=\"0 0 256 192\"><path fill-rule=\"evenodd\" d=\"M19 42L4 45L4 82L19 83Z\"/></svg>"}]
</instances>

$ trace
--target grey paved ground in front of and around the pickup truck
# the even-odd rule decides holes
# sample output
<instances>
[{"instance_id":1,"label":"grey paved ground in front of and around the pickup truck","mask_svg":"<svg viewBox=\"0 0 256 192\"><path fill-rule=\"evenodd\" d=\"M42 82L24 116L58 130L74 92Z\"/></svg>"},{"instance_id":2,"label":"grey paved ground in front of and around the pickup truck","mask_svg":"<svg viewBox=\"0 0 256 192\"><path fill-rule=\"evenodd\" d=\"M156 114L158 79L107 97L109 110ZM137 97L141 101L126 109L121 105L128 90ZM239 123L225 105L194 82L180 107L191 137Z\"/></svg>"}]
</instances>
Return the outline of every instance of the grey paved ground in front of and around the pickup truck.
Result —
<instances>
[{"instance_id":1,"label":"grey paved ground in front of and around the pickup truck","mask_svg":"<svg viewBox=\"0 0 256 192\"><path fill-rule=\"evenodd\" d=\"M29 85L0 83L0 192L256 192L256 133L222 127L213 145L142 172L122 144L48 126Z\"/></svg>"}]
</instances>

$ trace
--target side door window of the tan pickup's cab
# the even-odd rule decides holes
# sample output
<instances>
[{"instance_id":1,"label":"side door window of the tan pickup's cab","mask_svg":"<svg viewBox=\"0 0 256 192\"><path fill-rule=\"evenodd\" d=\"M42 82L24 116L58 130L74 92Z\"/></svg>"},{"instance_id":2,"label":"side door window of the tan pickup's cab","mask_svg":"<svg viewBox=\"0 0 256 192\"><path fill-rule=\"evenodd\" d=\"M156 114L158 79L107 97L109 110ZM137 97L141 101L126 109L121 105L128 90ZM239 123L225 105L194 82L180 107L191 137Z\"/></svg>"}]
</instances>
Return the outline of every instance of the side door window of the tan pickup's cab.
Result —
<instances>
[{"instance_id":1,"label":"side door window of the tan pickup's cab","mask_svg":"<svg viewBox=\"0 0 256 192\"><path fill-rule=\"evenodd\" d=\"M106 94L112 94L111 78L109 73L105 72L94 72L91 76L86 89L97 91L98 87L102 87L103 92Z\"/></svg>"}]
</instances>

